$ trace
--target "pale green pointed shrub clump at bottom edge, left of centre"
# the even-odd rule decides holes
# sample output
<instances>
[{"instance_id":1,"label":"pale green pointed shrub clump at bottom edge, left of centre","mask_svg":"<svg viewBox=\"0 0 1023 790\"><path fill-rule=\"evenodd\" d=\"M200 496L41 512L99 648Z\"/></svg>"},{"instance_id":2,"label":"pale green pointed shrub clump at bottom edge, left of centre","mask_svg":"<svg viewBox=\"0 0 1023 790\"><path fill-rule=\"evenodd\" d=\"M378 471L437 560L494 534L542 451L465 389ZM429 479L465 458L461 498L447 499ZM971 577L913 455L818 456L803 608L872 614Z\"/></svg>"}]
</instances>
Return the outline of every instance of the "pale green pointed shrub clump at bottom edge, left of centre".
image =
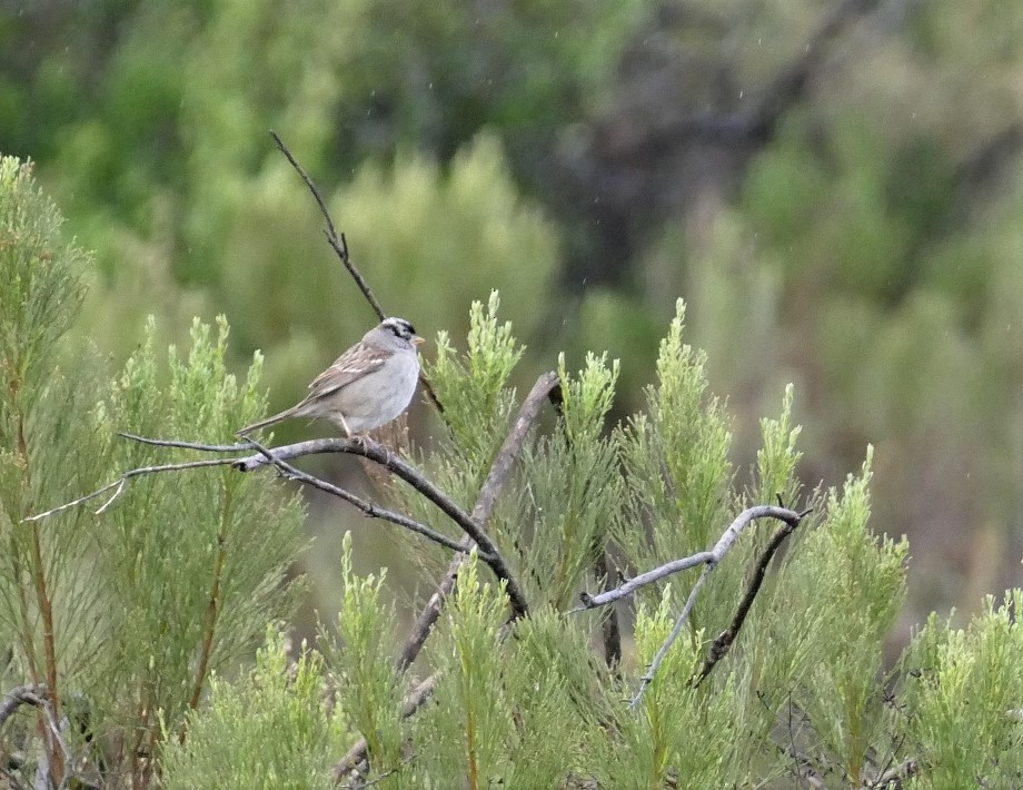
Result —
<instances>
[{"instance_id":1,"label":"pale green pointed shrub clump at bottom edge, left of centre","mask_svg":"<svg viewBox=\"0 0 1023 790\"><path fill-rule=\"evenodd\" d=\"M325 693L322 659L302 643L289 658L275 628L256 665L231 683L213 677L209 702L188 717L188 739L165 732L161 786L175 788L325 788L340 748L339 712Z\"/></svg>"}]
</instances>

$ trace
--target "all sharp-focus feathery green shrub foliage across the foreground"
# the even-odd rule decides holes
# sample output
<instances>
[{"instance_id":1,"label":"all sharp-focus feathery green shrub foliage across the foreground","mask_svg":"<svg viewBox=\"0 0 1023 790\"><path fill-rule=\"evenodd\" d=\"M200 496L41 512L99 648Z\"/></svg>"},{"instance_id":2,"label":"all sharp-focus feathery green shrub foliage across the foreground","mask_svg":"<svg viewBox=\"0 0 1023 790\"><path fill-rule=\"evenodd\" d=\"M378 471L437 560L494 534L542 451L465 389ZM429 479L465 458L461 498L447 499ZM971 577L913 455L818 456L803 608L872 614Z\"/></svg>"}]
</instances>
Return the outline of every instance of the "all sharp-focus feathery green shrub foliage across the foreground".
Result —
<instances>
[{"instance_id":1,"label":"all sharp-focus feathery green shrub foliage across the foreground","mask_svg":"<svg viewBox=\"0 0 1023 790\"><path fill-rule=\"evenodd\" d=\"M150 322L123 373L103 383L97 355L60 336L79 303L83 257L59 243L59 217L22 166L4 160L0 175L0 266L18 293L0 297L3 677L47 683L50 704L73 724L66 740L76 757L61 767L46 717L19 714L2 734L8 752L31 747L10 769L20 783L59 784L83 771L81 757L101 769L79 778L107 786L321 787L356 738L368 744L368 779L394 788L718 788L807 774L858 787L897 766L918 787L1020 780L1023 593L1000 608L989 600L961 631L932 618L883 674L908 547L867 529L872 450L844 486L808 497L813 513L767 570L727 653L711 652L714 635L735 626L773 524L748 525L713 566L637 593L622 662L595 649L608 613L569 610L580 592L615 583L604 555L625 573L649 570L711 547L751 503L802 504L793 388L779 416L761 421L762 447L739 486L732 416L711 395L706 355L683 343L681 303L647 408L624 427L607 425L618 364L589 355L569 374L559 359L562 413L553 429L526 437L485 525L529 615L508 622L504 582L470 554L421 659L433 698L411 721L403 698L415 683L391 669L397 618L383 603L391 574L357 575L350 539L337 634L322 633L322 651L304 644L291 662L279 629L267 630L294 611L285 574L302 516L272 481L228 466L165 471L109 488L97 512L24 521L126 468L187 457L119 441L118 431L230 441L262 411L261 358L239 382L228 373L227 322L215 336L197 319L188 354L171 348L165 365ZM1005 231L1001 243L1014 238ZM943 303L914 304L934 319ZM523 350L497 310L496 293L474 304L463 354L440 335L428 372L449 431L414 451L467 507L519 399L509 382ZM407 512L451 529L408 486L391 491ZM708 581L686 628L628 707L701 572ZM262 634L255 668L225 680Z\"/></svg>"}]
</instances>

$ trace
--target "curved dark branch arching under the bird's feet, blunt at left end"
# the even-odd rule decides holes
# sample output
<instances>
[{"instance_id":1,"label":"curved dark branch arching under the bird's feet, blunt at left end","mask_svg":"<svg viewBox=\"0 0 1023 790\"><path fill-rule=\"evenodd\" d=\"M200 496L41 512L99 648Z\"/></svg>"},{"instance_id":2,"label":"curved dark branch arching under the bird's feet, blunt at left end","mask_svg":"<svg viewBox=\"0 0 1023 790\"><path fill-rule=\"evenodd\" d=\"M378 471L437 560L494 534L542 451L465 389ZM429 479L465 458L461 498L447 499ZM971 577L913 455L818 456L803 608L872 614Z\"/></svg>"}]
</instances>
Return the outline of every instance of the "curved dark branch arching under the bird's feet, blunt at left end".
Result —
<instances>
[{"instance_id":1,"label":"curved dark branch arching under the bird's feet, blunt at left end","mask_svg":"<svg viewBox=\"0 0 1023 790\"><path fill-rule=\"evenodd\" d=\"M494 543L487 532L475 519L466 513L457 502L427 480L415 466L395 453L391 453L383 444L361 436L356 438L337 437L274 447L271 453L275 458L279 460L294 458L314 453L348 453L368 458L390 470L423 494L423 496L437 505L445 515L454 521L455 524L479 546L480 560L484 560L487 566L494 571L494 575L505 582L505 591L508 594L513 616L522 618L528 612L529 606L526 603L526 598L523 594L522 587L515 580L512 569L498 551L497 544ZM262 453L257 453L256 455L236 460L235 466L242 472L251 472L252 470L270 463L271 461L262 455Z\"/></svg>"}]
</instances>

